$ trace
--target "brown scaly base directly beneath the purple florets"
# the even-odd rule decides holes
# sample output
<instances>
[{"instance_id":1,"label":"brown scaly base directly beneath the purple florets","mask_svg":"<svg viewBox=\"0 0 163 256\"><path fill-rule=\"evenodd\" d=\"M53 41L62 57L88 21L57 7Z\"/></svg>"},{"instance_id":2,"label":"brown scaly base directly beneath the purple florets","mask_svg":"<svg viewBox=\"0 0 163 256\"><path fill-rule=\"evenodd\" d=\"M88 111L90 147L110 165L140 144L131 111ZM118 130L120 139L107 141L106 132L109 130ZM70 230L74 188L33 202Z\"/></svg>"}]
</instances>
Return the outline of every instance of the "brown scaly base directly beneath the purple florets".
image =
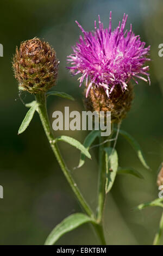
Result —
<instances>
[{"instance_id":1,"label":"brown scaly base directly beneath the purple florets","mask_svg":"<svg viewBox=\"0 0 163 256\"><path fill-rule=\"evenodd\" d=\"M86 90L86 89L85 89ZM128 90L122 92L121 86L116 86L108 97L105 90L92 87L87 98L84 97L84 105L87 111L111 111L111 123L121 123L126 118L134 99L133 85L128 84Z\"/></svg>"}]
</instances>

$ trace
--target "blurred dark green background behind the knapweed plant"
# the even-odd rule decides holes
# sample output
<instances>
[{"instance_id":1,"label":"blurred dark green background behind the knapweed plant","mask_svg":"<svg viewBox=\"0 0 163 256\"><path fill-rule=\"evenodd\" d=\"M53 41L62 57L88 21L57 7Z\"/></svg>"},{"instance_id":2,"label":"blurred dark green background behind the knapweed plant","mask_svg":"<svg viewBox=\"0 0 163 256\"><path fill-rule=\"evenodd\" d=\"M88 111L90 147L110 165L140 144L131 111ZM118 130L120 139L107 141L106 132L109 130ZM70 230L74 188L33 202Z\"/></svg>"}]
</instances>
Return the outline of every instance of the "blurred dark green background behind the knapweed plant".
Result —
<instances>
[{"instance_id":1,"label":"blurred dark green background behind the knapweed plant","mask_svg":"<svg viewBox=\"0 0 163 256\"><path fill-rule=\"evenodd\" d=\"M58 84L55 90L75 97L70 102L59 97L48 99L49 117L52 112L70 106L70 110L83 110L83 89L77 77L65 69L66 56L78 40L78 20L89 31L93 21L101 16L104 26L112 27L129 15L127 27L133 24L135 34L151 45L151 87L145 83L135 86L135 100L122 129L128 131L141 144L152 172L145 170L135 152L123 138L118 138L117 151L121 167L133 167L143 174L144 180L133 176L117 176L107 198L104 214L106 240L109 245L148 245L158 229L161 210L158 208L132 211L148 200L158 197L156 176L163 161L163 58L158 56L158 45L163 43L163 3L152 0L14 0L1 2L1 41L4 57L0 58L0 185L4 199L0 199L0 244L41 245L49 232L63 218L79 212L80 207L56 162L43 132L39 116L22 135L17 136L27 108L18 97L17 82L11 62L20 42L39 36L51 44L60 60ZM33 100L28 93L21 95L23 102ZM85 131L55 132L84 141ZM79 160L79 151L60 143L68 167L73 169ZM73 170L73 176L85 198L95 210L97 204L97 151L92 150L92 161ZM163 239L162 239L163 243ZM95 245L98 240L89 225L63 236L59 245Z\"/></svg>"}]
</instances>

